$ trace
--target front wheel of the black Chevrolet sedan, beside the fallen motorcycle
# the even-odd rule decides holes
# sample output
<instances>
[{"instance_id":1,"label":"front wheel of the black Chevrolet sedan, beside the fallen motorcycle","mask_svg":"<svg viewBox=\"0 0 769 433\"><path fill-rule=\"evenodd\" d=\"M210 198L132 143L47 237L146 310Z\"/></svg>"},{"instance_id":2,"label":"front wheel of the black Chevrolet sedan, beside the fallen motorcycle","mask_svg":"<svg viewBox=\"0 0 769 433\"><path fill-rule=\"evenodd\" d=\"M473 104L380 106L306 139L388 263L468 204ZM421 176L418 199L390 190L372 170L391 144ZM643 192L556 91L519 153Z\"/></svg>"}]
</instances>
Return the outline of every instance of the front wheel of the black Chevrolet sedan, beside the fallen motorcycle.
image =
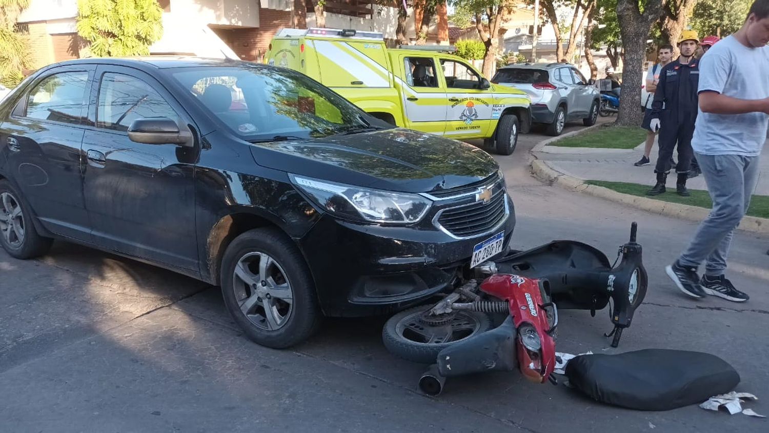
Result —
<instances>
[{"instance_id":1,"label":"front wheel of the black Chevrolet sedan, beside the fallen motorcycle","mask_svg":"<svg viewBox=\"0 0 769 433\"><path fill-rule=\"evenodd\" d=\"M277 228L257 228L235 238L222 258L220 281L230 315L258 345L288 348L320 328L310 269Z\"/></svg>"}]
</instances>

